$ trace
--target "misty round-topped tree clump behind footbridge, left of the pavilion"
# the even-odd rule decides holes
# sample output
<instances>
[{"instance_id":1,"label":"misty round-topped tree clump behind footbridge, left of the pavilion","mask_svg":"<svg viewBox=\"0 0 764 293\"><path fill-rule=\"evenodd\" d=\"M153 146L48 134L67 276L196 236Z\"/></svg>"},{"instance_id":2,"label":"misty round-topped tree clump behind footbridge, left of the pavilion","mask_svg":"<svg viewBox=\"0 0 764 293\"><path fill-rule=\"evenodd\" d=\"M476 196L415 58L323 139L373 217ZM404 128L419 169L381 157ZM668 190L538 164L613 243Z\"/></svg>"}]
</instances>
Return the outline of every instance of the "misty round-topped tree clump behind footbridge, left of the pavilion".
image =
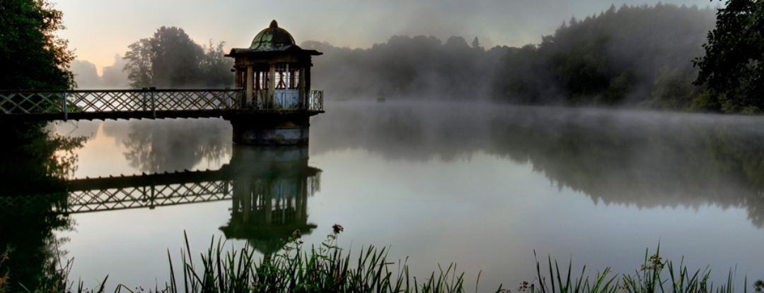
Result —
<instances>
[{"instance_id":1,"label":"misty round-topped tree clump behind footbridge, left of the pavilion","mask_svg":"<svg viewBox=\"0 0 764 293\"><path fill-rule=\"evenodd\" d=\"M130 86L189 88L230 85L232 60L224 57L224 42L206 51L179 27L160 27L154 37L132 43L125 53Z\"/></svg>"}]
</instances>

